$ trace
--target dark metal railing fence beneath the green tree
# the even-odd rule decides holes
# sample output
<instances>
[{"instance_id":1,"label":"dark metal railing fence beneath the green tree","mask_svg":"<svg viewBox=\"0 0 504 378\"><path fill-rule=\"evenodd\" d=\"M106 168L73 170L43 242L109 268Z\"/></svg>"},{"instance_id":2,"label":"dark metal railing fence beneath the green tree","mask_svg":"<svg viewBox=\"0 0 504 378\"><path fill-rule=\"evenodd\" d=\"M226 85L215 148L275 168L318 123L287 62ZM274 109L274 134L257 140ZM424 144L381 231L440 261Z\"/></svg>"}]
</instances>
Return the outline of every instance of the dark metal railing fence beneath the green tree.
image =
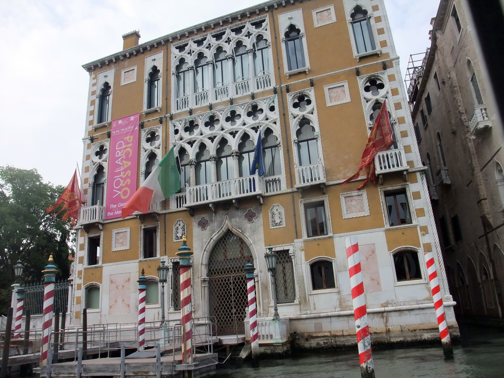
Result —
<instances>
[{"instance_id":1,"label":"dark metal railing fence beneath the green tree","mask_svg":"<svg viewBox=\"0 0 504 378\"><path fill-rule=\"evenodd\" d=\"M42 282L34 282L25 286L25 301L23 307L23 315L29 309L32 315L41 315L44 304L44 284ZM67 280L56 281L54 285L54 311L67 311L68 305L68 288Z\"/></svg>"}]
</instances>

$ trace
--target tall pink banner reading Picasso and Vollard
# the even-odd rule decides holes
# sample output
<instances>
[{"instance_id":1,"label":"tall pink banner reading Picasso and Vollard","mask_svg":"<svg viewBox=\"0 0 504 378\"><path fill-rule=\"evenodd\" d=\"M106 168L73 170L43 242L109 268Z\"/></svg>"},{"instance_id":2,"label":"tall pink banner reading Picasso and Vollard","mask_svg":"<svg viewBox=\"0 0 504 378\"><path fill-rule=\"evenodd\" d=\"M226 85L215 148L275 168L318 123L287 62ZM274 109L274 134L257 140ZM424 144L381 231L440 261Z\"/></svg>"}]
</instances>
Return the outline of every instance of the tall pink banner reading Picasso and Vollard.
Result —
<instances>
[{"instance_id":1,"label":"tall pink banner reading Picasso and Vollard","mask_svg":"<svg viewBox=\"0 0 504 378\"><path fill-rule=\"evenodd\" d=\"M120 218L137 190L139 123L140 114L112 121L105 219Z\"/></svg>"}]
</instances>

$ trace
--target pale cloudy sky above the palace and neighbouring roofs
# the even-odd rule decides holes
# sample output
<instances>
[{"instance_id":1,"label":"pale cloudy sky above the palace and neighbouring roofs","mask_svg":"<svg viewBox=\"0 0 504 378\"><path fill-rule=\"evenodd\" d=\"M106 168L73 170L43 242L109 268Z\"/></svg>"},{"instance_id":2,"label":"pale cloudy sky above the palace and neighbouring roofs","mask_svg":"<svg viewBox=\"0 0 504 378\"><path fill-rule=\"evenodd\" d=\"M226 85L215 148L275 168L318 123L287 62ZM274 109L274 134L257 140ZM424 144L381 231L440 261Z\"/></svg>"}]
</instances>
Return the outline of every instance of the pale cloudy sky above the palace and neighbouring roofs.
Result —
<instances>
[{"instance_id":1,"label":"pale cloudy sky above the palace and neighbouring roofs","mask_svg":"<svg viewBox=\"0 0 504 378\"><path fill-rule=\"evenodd\" d=\"M147 42L261 3L0 0L0 166L36 168L45 182L67 185L82 163L89 85L82 65L122 50L130 31ZM430 46L438 4L385 0L403 79L409 55Z\"/></svg>"}]
</instances>

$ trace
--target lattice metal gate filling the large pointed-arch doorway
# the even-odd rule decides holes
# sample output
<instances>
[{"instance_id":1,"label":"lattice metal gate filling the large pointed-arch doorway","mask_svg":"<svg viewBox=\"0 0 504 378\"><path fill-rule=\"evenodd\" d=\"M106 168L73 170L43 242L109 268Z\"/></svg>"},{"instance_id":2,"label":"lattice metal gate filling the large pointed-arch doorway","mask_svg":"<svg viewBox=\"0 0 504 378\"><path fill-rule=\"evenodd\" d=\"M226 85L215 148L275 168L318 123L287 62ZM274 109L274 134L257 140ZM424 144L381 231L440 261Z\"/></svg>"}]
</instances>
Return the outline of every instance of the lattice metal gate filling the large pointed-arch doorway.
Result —
<instances>
[{"instance_id":1,"label":"lattice metal gate filling the large pointed-arch doorway","mask_svg":"<svg viewBox=\"0 0 504 378\"><path fill-rule=\"evenodd\" d=\"M208 262L210 316L217 335L243 335L246 316L246 257L248 245L231 231L215 244ZM251 256L250 256L251 257Z\"/></svg>"}]
</instances>

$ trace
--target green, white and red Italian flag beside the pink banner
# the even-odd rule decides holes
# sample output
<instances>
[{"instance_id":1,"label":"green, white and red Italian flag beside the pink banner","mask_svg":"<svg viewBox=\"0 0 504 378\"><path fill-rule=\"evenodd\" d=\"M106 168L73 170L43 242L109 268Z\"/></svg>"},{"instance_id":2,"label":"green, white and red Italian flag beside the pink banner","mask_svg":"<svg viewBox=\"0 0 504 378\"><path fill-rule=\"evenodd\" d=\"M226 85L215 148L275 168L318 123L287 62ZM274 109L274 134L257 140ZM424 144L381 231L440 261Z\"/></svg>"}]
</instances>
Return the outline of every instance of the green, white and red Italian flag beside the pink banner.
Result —
<instances>
[{"instance_id":1,"label":"green, white and red Italian flag beside the pink banner","mask_svg":"<svg viewBox=\"0 0 504 378\"><path fill-rule=\"evenodd\" d=\"M175 163L173 147L152 170L149 177L138 188L133 197L124 205L121 217L125 218L135 211L147 213L149 206L163 201L180 190L180 174Z\"/></svg>"}]
</instances>

